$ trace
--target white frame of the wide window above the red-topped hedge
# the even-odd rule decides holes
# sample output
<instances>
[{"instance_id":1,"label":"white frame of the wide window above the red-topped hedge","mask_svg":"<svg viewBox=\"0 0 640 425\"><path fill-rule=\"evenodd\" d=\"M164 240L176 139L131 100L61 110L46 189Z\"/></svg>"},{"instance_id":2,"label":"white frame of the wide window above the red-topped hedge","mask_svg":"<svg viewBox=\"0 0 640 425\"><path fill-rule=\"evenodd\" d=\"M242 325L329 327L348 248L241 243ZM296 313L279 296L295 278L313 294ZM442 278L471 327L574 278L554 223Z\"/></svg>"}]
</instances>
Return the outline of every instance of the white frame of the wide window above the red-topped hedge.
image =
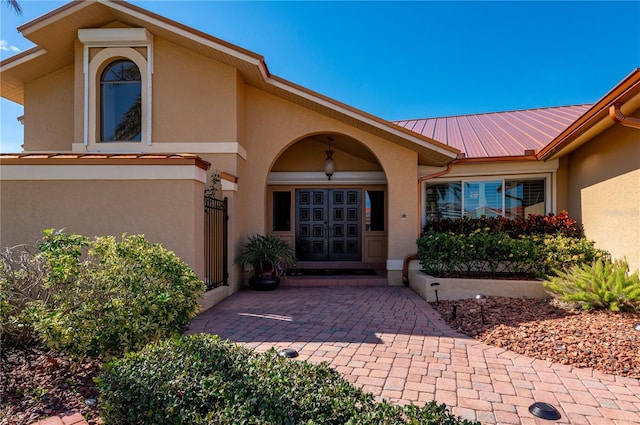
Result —
<instances>
[{"instance_id":1,"label":"white frame of the wide window above the red-topped hedge","mask_svg":"<svg viewBox=\"0 0 640 425\"><path fill-rule=\"evenodd\" d=\"M544 179L544 205L545 205L545 214L549 214L554 212L554 203L553 203L553 195L552 195L552 180L554 178L555 173L537 173L537 174L506 174L506 175L486 175L486 176L465 176L465 177L447 177L447 178L437 178L432 180L427 180L422 183L422 199L426 199L426 191L428 184L434 183L460 183L461 184L461 208L460 211L461 217L464 217L464 184L472 183L472 182L486 182L486 181L501 181L502 187L504 188L504 184L506 180L541 180ZM502 191L502 217L505 215L505 193L506 191ZM422 212L422 226L427 224L427 207L426 203L423 201L420 206Z\"/></svg>"}]
</instances>

